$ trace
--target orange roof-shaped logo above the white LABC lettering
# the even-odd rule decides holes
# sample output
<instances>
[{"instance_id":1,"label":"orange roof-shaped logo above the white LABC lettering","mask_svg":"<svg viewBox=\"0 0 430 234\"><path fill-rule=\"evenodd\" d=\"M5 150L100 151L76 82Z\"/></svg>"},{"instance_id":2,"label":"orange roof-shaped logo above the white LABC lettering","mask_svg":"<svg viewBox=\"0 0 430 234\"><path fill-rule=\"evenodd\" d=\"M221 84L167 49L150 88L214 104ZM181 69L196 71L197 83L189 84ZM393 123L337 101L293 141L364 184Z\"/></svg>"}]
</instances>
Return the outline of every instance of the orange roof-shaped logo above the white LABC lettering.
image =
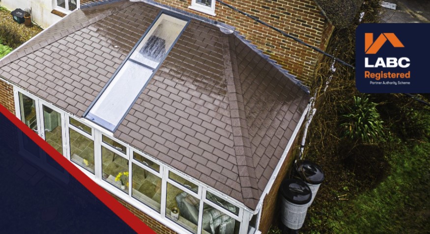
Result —
<instances>
[{"instance_id":1,"label":"orange roof-shaped logo above the white LABC lettering","mask_svg":"<svg viewBox=\"0 0 430 234\"><path fill-rule=\"evenodd\" d=\"M365 33L364 50L366 54L375 54L381 49L386 41L394 47L404 47L399 38L392 32L384 32L373 42L373 33Z\"/></svg>"}]
</instances>

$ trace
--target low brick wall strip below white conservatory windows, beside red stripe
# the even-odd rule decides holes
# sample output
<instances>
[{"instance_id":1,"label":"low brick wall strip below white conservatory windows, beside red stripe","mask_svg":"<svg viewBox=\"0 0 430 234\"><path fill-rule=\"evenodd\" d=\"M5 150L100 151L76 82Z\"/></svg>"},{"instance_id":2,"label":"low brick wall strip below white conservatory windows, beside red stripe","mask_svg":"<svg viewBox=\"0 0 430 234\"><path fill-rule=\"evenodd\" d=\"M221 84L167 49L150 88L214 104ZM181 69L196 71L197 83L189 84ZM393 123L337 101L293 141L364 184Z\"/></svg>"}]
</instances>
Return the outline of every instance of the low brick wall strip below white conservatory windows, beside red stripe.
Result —
<instances>
[{"instance_id":1,"label":"low brick wall strip below white conservatory windows, beside red stripe","mask_svg":"<svg viewBox=\"0 0 430 234\"><path fill-rule=\"evenodd\" d=\"M134 215L138 216L142 220L142 222L145 223L152 230L154 230L155 233L157 233L157 234L178 234L178 233L174 232L173 230L169 229L166 225L153 219L151 216L147 215L146 213L143 213L142 210L135 208L134 206L127 203L126 201L115 196L113 193L111 193L109 191L107 191L107 192L109 194L111 194L116 200L118 200L118 202L120 202L124 207L126 207L128 210L130 210Z\"/></svg>"}]
</instances>

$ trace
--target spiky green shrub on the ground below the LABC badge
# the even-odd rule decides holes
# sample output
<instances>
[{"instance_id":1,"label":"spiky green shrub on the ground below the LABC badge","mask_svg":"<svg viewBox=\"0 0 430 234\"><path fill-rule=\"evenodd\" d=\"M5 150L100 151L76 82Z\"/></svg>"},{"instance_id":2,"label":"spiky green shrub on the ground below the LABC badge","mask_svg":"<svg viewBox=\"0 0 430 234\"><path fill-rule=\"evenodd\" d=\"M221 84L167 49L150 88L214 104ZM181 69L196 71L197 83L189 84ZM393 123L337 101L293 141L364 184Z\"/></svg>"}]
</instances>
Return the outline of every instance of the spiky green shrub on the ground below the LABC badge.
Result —
<instances>
[{"instance_id":1,"label":"spiky green shrub on the ground below the LABC badge","mask_svg":"<svg viewBox=\"0 0 430 234\"><path fill-rule=\"evenodd\" d=\"M381 120L375 103L369 98L353 97L353 103L344 105L345 114L341 118L342 136L344 138L373 143L381 140L383 135L383 121Z\"/></svg>"}]
</instances>

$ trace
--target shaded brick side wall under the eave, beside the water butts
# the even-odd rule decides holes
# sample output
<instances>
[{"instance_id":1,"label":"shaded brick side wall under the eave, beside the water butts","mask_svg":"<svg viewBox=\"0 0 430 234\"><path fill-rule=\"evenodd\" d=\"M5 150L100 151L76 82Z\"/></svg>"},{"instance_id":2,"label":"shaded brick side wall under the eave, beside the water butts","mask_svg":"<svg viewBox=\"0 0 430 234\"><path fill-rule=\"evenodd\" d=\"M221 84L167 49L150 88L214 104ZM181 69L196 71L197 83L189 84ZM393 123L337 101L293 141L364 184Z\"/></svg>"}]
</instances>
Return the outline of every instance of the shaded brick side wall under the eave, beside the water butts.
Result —
<instances>
[{"instance_id":1,"label":"shaded brick side wall under the eave, beside the water butts","mask_svg":"<svg viewBox=\"0 0 430 234\"><path fill-rule=\"evenodd\" d=\"M278 201L278 191L279 187L281 186L281 182L284 180L289 170L292 169L291 165L294 162L294 156L296 156L298 152L298 141L299 139L301 139L301 137L299 137L300 135L301 134L298 134L298 136L294 140L293 148L291 148L291 150L288 152L287 159L285 160L284 165L281 166L278 177L275 179L272 188L264 198L261 211L260 225L258 228L258 230L261 231L262 234L266 234L269 231L270 226L277 221L276 218L279 217L281 214L280 206L278 205L280 204Z\"/></svg>"}]
</instances>

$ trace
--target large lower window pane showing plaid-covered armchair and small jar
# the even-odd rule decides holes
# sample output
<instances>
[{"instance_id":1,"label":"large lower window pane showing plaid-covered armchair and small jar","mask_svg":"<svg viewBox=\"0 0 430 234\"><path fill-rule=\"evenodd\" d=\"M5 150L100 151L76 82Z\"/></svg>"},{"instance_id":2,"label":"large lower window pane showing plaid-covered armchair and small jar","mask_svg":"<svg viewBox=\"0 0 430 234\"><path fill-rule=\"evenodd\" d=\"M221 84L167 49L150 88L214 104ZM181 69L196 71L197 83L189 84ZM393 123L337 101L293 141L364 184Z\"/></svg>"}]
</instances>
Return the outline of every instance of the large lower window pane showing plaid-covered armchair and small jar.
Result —
<instances>
[{"instance_id":1,"label":"large lower window pane showing plaid-covered armchair and small jar","mask_svg":"<svg viewBox=\"0 0 430 234\"><path fill-rule=\"evenodd\" d=\"M200 200L167 183L166 217L192 233L197 233Z\"/></svg>"}]
</instances>

